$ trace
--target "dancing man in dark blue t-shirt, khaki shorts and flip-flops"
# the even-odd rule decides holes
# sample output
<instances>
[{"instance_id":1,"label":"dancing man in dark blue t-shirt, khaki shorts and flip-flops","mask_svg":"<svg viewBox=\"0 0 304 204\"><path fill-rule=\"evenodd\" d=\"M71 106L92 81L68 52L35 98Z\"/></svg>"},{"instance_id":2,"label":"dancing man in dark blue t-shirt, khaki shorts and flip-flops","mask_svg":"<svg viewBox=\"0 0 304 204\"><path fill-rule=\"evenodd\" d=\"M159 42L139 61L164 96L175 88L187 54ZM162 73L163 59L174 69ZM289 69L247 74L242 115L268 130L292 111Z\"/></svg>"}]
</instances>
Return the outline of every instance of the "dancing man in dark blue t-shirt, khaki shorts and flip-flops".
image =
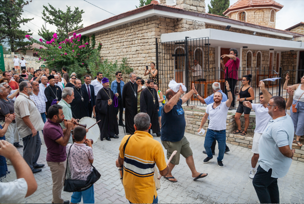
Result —
<instances>
[{"instance_id":1,"label":"dancing man in dark blue t-shirt, khaki shorts and flip-flops","mask_svg":"<svg viewBox=\"0 0 304 204\"><path fill-rule=\"evenodd\" d=\"M169 159L174 150L177 150L176 155L172 158L169 164L169 173L164 176L170 182L177 182L172 176L172 169L179 164L180 155L186 158L186 163L189 166L194 180L206 177L208 174L199 173L195 169L193 152L188 140L184 136L186 121L184 111L181 107L193 93L196 92L194 84L192 90L179 98L184 91L181 86L179 91L175 93L171 88L166 91L168 103L162 109L162 143L167 149L167 158Z\"/></svg>"}]
</instances>

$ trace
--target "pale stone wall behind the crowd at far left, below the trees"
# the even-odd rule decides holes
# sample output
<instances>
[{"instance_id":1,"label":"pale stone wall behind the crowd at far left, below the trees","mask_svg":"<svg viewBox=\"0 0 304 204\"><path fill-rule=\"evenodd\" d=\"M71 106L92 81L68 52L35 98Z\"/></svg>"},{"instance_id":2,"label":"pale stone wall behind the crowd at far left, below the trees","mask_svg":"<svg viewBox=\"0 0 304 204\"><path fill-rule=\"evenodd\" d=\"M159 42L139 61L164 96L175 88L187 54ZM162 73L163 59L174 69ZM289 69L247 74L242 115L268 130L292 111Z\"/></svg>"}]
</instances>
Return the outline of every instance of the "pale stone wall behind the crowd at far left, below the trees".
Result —
<instances>
[{"instance_id":1,"label":"pale stone wall behind the crowd at far left, below the trees","mask_svg":"<svg viewBox=\"0 0 304 204\"><path fill-rule=\"evenodd\" d=\"M14 67L14 56L15 55L4 55L4 65L5 65L5 70L12 70L12 68ZM16 56L21 60L21 56L16 54ZM33 67L34 70L39 69L39 67L43 64L43 63L37 63L39 58L36 57L32 57L32 56L23 56L24 60L26 61L26 67ZM21 69L21 67L20 67Z\"/></svg>"}]
</instances>

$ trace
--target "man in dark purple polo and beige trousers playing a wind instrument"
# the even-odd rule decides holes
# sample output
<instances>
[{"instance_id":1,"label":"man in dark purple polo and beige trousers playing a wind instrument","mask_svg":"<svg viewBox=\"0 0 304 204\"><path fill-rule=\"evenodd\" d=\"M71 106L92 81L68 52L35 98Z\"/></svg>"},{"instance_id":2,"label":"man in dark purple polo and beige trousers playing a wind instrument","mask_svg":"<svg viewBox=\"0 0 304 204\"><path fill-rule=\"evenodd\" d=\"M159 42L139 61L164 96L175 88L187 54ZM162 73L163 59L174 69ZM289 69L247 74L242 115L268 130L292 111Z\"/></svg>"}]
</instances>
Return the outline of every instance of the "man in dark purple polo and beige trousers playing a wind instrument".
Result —
<instances>
[{"instance_id":1,"label":"man in dark purple polo and beige trousers playing a wind instrument","mask_svg":"<svg viewBox=\"0 0 304 204\"><path fill-rule=\"evenodd\" d=\"M47 163L53 180L52 203L69 203L61 197L63 178L66 168L66 150L74 120L67 121L66 129L62 130L60 123L64 119L62 106L53 105L48 110L49 119L43 128L43 137L47 146Z\"/></svg>"}]
</instances>

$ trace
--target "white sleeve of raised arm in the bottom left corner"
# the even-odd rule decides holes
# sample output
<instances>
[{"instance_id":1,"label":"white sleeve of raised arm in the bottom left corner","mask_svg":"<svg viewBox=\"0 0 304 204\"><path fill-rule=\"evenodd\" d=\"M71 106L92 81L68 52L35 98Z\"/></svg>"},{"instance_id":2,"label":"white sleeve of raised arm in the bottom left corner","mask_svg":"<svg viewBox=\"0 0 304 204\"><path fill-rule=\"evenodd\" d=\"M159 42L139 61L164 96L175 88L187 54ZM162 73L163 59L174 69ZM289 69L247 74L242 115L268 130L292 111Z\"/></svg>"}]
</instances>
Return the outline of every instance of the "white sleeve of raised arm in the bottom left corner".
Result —
<instances>
[{"instance_id":1,"label":"white sleeve of raised arm in the bottom left corner","mask_svg":"<svg viewBox=\"0 0 304 204\"><path fill-rule=\"evenodd\" d=\"M27 183L24 178L4 183L0 182L1 203L21 203L27 193Z\"/></svg>"}]
</instances>

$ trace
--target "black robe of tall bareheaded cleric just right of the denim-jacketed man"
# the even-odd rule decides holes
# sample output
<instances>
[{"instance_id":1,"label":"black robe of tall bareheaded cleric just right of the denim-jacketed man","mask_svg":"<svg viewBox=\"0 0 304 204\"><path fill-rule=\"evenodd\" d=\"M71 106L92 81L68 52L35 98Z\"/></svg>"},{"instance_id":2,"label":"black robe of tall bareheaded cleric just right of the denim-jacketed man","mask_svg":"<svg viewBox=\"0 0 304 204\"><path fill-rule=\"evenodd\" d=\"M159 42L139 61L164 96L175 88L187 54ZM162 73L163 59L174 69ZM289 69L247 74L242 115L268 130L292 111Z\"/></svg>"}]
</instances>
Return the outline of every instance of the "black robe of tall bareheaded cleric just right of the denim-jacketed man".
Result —
<instances>
[{"instance_id":1,"label":"black robe of tall bareheaded cleric just right of the denim-jacketed man","mask_svg":"<svg viewBox=\"0 0 304 204\"><path fill-rule=\"evenodd\" d=\"M133 84L131 81L126 83L123 87L122 97L125 108L126 132L134 134L134 117L137 114L137 84Z\"/></svg>"}]
</instances>

